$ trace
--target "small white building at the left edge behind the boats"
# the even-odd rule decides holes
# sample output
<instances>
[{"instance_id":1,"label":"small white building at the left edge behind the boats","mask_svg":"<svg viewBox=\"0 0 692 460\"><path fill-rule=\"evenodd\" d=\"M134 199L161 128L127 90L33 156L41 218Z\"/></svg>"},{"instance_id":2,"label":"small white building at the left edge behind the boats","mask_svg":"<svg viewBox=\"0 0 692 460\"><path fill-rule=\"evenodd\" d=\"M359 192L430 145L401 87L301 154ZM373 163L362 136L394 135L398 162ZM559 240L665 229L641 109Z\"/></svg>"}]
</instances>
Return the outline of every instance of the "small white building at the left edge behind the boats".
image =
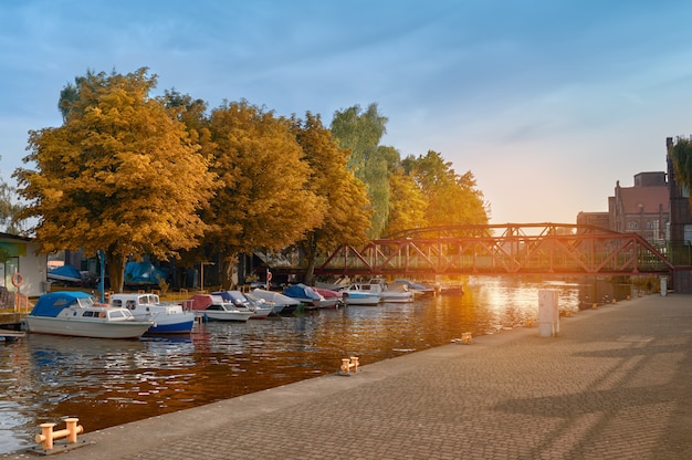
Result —
<instances>
[{"instance_id":1,"label":"small white building at the left edge behind the boats","mask_svg":"<svg viewBox=\"0 0 692 460\"><path fill-rule=\"evenodd\" d=\"M0 232L0 286L30 297L44 294L50 288L48 254L38 250L31 238Z\"/></svg>"}]
</instances>

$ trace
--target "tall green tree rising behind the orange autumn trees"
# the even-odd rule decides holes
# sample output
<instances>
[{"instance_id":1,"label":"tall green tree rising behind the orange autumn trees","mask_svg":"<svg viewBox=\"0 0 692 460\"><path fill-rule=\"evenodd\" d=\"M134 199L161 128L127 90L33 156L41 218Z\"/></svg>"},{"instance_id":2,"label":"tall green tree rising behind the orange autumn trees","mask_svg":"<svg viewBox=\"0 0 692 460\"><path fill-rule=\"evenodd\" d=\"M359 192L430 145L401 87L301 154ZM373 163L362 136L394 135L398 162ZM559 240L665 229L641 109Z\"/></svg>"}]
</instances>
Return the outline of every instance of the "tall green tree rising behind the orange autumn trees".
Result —
<instances>
[{"instance_id":1,"label":"tall green tree rising behind the orange autumn trees","mask_svg":"<svg viewBox=\"0 0 692 460\"><path fill-rule=\"evenodd\" d=\"M337 111L331 126L338 145L352 151L349 169L367 186L373 210L370 238L382 233L389 216L389 159L392 149L379 146L386 126L387 118L379 114L375 103L365 112L359 105Z\"/></svg>"}]
</instances>

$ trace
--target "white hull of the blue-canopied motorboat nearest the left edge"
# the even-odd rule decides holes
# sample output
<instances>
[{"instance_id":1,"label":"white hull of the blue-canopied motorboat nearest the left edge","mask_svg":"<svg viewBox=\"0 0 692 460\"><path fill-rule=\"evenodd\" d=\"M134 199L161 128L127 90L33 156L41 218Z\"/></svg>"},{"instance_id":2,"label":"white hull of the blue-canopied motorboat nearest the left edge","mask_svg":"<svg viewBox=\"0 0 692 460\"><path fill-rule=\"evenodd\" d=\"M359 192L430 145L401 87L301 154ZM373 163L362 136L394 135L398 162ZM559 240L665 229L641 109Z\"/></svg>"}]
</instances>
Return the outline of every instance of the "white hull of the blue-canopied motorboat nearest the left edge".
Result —
<instances>
[{"instance_id":1,"label":"white hull of the blue-canopied motorboat nearest the left edge","mask_svg":"<svg viewBox=\"0 0 692 460\"><path fill-rule=\"evenodd\" d=\"M150 322L96 322L28 315L30 333L93 338L137 338L151 327Z\"/></svg>"}]
</instances>

